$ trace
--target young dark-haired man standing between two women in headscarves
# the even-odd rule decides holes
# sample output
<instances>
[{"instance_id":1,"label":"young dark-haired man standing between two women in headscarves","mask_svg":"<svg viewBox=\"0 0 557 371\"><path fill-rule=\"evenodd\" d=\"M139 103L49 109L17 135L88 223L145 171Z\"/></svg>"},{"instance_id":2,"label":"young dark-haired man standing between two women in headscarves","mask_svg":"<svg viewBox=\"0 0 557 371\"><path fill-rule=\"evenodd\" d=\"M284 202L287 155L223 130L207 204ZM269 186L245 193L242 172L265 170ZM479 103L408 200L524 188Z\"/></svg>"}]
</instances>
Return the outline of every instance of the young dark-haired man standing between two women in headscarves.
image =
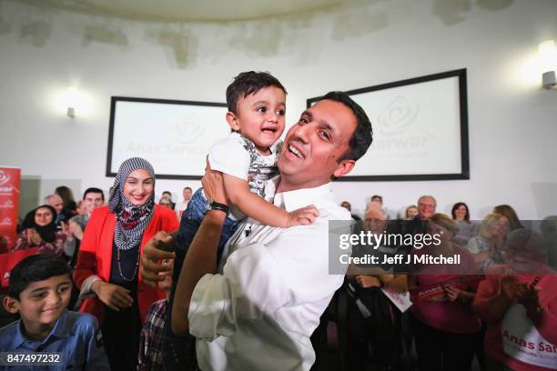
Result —
<instances>
[{"instance_id":1,"label":"young dark-haired man standing between two women in headscarves","mask_svg":"<svg viewBox=\"0 0 557 371\"><path fill-rule=\"evenodd\" d=\"M93 214L97 207L105 205L105 193L100 188L87 188L83 194L83 204L85 206L85 214L73 216L69 220L69 224L64 226L64 228L68 228L69 232L66 234L64 253L71 258L71 266L75 266L79 244L91 214Z\"/></svg>"}]
</instances>

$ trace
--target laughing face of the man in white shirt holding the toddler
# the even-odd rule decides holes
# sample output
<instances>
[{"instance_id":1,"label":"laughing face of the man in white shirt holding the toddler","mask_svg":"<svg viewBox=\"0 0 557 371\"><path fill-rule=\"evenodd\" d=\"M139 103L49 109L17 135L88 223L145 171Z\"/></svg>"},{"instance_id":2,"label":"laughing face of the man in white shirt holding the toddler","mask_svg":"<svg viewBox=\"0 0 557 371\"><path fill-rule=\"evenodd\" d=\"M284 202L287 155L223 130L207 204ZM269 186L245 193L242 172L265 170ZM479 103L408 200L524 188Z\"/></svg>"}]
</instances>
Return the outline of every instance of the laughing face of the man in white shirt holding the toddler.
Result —
<instances>
[{"instance_id":1,"label":"laughing face of the man in white shirt holding the toddler","mask_svg":"<svg viewBox=\"0 0 557 371\"><path fill-rule=\"evenodd\" d=\"M278 164L280 190L321 186L332 176L348 174L355 162L338 160L349 149L356 125L356 116L339 102L321 100L308 108L284 141Z\"/></svg>"}]
</instances>

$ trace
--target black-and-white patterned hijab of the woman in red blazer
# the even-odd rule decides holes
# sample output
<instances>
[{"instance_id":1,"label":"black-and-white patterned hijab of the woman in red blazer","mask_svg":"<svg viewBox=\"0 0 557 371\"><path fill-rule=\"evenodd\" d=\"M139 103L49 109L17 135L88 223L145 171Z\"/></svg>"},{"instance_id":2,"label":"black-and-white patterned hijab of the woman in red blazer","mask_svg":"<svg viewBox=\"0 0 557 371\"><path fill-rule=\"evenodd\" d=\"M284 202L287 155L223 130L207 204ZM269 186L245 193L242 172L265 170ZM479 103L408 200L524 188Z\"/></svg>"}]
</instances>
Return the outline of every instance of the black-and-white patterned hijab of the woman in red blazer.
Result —
<instances>
[{"instance_id":1,"label":"black-and-white patterned hijab of the woman in red blazer","mask_svg":"<svg viewBox=\"0 0 557 371\"><path fill-rule=\"evenodd\" d=\"M144 205L133 205L124 196L127 176L138 169L144 169L153 177L153 194ZM155 209L155 171L147 160L140 157L129 158L120 165L112 193L108 199L110 212L116 214L114 243L119 250L129 250L139 246L145 228L153 217Z\"/></svg>"}]
</instances>

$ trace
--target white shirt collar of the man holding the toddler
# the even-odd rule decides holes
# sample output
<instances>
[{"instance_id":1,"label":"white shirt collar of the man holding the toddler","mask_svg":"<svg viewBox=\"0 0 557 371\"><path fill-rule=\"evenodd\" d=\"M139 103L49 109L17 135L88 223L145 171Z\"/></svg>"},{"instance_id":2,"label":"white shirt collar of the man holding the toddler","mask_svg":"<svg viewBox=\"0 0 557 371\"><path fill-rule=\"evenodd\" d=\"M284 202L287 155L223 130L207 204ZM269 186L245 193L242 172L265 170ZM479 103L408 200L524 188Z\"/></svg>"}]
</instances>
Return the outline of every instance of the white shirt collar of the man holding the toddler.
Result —
<instances>
[{"instance_id":1,"label":"white shirt collar of the man holding the toddler","mask_svg":"<svg viewBox=\"0 0 557 371\"><path fill-rule=\"evenodd\" d=\"M280 177L276 176L270 179L268 185L272 185L273 191L276 191L277 187L279 186L279 182ZM272 195L272 193L269 194ZM301 188L293 191L275 194L273 204L275 204L276 206L284 206L284 209L290 212L299 209L300 207L309 206L312 204L314 206L319 206L320 200L329 197L332 197L331 182L313 188Z\"/></svg>"}]
</instances>

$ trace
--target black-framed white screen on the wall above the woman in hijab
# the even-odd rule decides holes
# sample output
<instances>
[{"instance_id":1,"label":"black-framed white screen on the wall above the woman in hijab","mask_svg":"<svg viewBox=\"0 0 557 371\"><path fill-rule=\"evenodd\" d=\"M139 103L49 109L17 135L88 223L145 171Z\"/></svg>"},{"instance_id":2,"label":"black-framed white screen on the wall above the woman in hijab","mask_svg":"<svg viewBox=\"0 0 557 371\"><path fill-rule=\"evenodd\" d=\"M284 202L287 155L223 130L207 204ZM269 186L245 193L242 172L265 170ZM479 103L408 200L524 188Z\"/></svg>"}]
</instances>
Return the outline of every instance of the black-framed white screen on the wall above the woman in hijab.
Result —
<instances>
[{"instance_id":1,"label":"black-framed white screen on the wall above the woman in hijab","mask_svg":"<svg viewBox=\"0 0 557 371\"><path fill-rule=\"evenodd\" d=\"M224 103L113 96L106 176L143 157L157 178L200 179L211 145L230 133Z\"/></svg>"}]
</instances>

